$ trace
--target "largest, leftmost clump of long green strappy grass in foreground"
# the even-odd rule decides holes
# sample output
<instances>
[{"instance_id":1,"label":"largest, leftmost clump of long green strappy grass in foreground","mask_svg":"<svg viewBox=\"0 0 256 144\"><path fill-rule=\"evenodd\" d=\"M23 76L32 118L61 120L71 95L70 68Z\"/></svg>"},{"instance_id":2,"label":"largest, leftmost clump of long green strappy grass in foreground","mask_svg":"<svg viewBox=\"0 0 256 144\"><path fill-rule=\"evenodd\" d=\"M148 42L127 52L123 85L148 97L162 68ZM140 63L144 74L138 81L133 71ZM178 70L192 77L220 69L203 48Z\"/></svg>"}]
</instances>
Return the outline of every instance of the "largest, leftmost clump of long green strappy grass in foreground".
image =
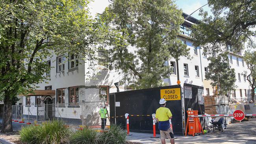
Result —
<instances>
[{"instance_id":1,"label":"largest, leftmost clump of long green strappy grass in foreground","mask_svg":"<svg viewBox=\"0 0 256 144\"><path fill-rule=\"evenodd\" d=\"M22 127L20 140L28 144L68 143L71 131L64 125L64 122L54 120L39 126Z\"/></svg>"}]
</instances>

